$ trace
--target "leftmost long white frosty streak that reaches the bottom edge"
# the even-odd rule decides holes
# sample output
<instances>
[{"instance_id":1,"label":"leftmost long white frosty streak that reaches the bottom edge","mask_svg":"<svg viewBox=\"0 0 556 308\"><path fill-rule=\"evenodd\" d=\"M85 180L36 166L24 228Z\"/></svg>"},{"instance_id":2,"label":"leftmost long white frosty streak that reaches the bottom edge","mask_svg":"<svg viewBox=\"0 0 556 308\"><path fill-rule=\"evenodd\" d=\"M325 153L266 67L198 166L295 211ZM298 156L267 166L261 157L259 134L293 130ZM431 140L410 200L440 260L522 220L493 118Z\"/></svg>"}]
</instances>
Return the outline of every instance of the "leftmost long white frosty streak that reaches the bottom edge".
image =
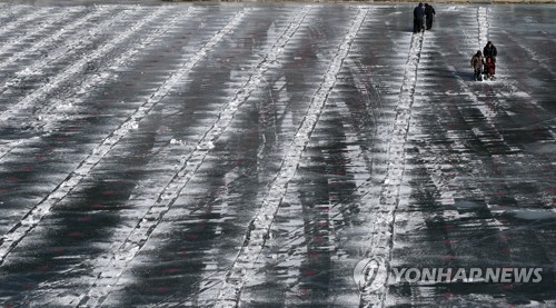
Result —
<instances>
[{"instance_id":1,"label":"leftmost long white frosty streak that reaches the bottom edge","mask_svg":"<svg viewBox=\"0 0 556 308\"><path fill-rule=\"evenodd\" d=\"M87 297L81 300L83 306L89 307L102 302L103 297L109 294L110 286L115 286L118 282L128 264L143 247L163 216L170 210L183 188L200 168L214 142L230 126L234 115L249 99L251 93L259 88L260 82L265 79L265 72L277 61L278 56L284 51L284 47L295 34L309 11L310 7L301 10L284 30L280 38L268 48L269 53L255 67L255 72L237 91L235 98L219 112L218 120L202 136L197 143L197 148L189 155L179 171L159 193L155 205L145 213L126 241L117 248L109 262L103 265L101 269L93 270L98 272L99 277ZM187 216L188 212L181 212L181 215Z\"/></svg>"}]
</instances>

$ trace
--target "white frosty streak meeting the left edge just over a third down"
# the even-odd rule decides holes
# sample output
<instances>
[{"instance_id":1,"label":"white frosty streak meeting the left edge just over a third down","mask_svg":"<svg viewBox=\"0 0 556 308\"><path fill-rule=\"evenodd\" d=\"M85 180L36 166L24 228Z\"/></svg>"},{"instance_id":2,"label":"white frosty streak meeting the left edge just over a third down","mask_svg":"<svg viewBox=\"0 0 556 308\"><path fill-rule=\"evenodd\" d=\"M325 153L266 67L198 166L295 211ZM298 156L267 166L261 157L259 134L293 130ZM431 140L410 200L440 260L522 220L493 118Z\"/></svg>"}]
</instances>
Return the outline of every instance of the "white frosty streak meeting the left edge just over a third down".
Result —
<instances>
[{"instance_id":1,"label":"white frosty streak meeting the left edge just over a third down","mask_svg":"<svg viewBox=\"0 0 556 308\"><path fill-rule=\"evenodd\" d=\"M137 8L135 9L137 10ZM159 14L161 13L161 10L155 11L153 14L151 14L148 18L141 18L137 23L133 26L129 27L126 31L123 31L121 34L118 34L113 40L108 41L97 49L83 54L78 61L72 63L69 68L67 68L63 72L57 74L54 78L49 80L47 85L38 89L37 91L32 92L31 95L27 96L24 99L20 100L17 102L14 106L12 106L10 109L6 110L0 115L0 122L6 122L10 118L14 118L14 116L22 109L28 109L30 107L37 107L36 102L38 100L44 99L48 93L53 91L54 89L62 87L63 82L67 82L75 78L76 76L80 74L83 69L87 68L87 63L90 61L93 61L96 59L99 59L107 54L108 52L112 51L113 49L117 48L118 44L125 42L127 39L129 39L132 34L135 34L139 29L141 29L142 26L146 23L152 21L156 19ZM123 18L126 16L130 14L130 12L126 11L125 14L120 16L120 18ZM108 27L113 23L113 20L106 21L101 24L101 27L96 28L95 33L99 33L101 31L108 31Z\"/></svg>"}]
</instances>

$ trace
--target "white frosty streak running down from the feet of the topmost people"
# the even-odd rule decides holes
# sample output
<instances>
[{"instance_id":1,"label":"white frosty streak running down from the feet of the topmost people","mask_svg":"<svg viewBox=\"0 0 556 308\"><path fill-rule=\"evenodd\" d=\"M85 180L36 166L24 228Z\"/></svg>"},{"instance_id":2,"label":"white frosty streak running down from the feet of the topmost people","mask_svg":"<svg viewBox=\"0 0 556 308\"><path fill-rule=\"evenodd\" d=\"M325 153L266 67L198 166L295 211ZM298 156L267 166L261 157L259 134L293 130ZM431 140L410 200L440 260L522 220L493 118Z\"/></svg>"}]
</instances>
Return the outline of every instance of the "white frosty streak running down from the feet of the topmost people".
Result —
<instances>
[{"instance_id":1,"label":"white frosty streak running down from the feet of the topmost people","mask_svg":"<svg viewBox=\"0 0 556 308\"><path fill-rule=\"evenodd\" d=\"M373 213L375 220L370 232L370 248L368 258L380 260L379 267L375 268L376 276L360 286L360 307L383 307L386 298L388 281L388 262L391 256L391 240L394 236L394 221L396 209L399 205L399 189L405 170L405 143L411 107L414 103L415 88L417 85L417 69L423 49L424 34L414 34L409 57L404 72L394 129L388 145L388 160L386 177L381 187L378 203L375 205Z\"/></svg>"}]
</instances>

